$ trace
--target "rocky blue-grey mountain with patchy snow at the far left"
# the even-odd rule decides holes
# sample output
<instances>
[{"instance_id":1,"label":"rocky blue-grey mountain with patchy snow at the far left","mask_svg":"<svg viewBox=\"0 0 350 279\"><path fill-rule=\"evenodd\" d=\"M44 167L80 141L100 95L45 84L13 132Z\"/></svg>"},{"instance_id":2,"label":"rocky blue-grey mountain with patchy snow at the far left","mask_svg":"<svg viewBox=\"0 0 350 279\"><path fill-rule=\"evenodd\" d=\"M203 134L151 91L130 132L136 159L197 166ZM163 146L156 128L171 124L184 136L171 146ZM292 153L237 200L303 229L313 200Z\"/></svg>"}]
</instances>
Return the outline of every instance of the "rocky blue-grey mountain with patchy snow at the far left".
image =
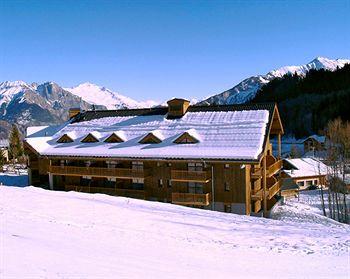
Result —
<instances>
[{"instance_id":1,"label":"rocky blue-grey mountain with patchy snow at the far left","mask_svg":"<svg viewBox=\"0 0 350 279\"><path fill-rule=\"evenodd\" d=\"M16 123L22 131L29 125L62 123L71 107L89 109L91 105L54 82L0 83L0 121Z\"/></svg>"}]
</instances>

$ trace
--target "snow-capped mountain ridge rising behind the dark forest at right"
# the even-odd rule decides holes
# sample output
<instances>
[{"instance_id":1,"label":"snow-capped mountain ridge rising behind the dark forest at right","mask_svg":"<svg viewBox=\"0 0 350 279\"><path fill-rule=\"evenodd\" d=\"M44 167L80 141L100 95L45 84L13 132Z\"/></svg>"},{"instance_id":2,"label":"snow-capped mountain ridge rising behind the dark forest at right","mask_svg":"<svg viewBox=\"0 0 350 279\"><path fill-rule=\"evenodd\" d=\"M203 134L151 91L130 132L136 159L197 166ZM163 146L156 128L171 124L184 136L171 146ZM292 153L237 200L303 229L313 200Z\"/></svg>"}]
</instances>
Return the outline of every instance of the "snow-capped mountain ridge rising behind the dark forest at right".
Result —
<instances>
[{"instance_id":1,"label":"snow-capped mountain ridge rising behind the dark forest at right","mask_svg":"<svg viewBox=\"0 0 350 279\"><path fill-rule=\"evenodd\" d=\"M258 75L249 77L229 90L226 90L220 94L213 95L200 104L242 104L256 95L256 92L266 83L271 80L282 77L285 74L298 74L300 76L305 75L311 69L314 70L330 70L334 71L337 68L344 67L345 64L350 63L348 59L328 59L324 57L317 57L310 63L301 66L285 66L277 70L268 72L266 75Z\"/></svg>"}]
</instances>

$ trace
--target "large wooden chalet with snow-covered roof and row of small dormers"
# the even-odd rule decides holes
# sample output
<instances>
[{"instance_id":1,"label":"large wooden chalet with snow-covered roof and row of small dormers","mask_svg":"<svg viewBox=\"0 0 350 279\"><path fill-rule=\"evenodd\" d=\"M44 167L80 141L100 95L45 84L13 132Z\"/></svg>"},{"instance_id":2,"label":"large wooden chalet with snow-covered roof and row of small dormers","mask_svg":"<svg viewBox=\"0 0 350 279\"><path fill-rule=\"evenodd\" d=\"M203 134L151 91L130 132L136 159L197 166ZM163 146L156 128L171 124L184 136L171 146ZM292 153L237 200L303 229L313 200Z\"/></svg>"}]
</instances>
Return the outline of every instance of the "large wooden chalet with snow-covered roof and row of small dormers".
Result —
<instances>
[{"instance_id":1,"label":"large wooden chalet with snow-covered roof and row of small dormers","mask_svg":"<svg viewBox=\"0 0 350 279\"><path fill-rule=\"evenodd\" d=\"M32 185L265 216L280 192L283 127L275 104L172 99L150 109L71 110L70 117L28 129Z\"/></svg>"}]
</instances>

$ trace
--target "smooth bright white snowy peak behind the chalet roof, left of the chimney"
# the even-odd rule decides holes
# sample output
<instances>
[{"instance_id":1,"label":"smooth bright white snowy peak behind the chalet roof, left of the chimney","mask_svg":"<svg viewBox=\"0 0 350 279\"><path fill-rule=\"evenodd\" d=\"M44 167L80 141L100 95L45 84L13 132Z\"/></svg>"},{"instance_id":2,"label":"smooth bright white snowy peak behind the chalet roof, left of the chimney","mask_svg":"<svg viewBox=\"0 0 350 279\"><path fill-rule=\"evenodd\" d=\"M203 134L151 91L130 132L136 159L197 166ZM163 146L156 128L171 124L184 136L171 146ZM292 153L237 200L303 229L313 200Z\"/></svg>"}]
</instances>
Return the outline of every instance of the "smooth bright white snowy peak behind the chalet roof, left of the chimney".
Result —
<instances>
[{"instance_id":1,"label":"smooth bright white snowy peak behind the chalet roof, left of the chimney","mask_svg":"<svg viewBox=\"0 0 350 279\"><path fill-rule=\"evenodd\" d=\"M113 92L106 87L89 82L79 84L76 87L65 88L65 90L79 96L82 100L90 104L103 105L107 109L143 108L157 105L154 101L135 101L129 97Z\"/></svg>"}]
</instances>

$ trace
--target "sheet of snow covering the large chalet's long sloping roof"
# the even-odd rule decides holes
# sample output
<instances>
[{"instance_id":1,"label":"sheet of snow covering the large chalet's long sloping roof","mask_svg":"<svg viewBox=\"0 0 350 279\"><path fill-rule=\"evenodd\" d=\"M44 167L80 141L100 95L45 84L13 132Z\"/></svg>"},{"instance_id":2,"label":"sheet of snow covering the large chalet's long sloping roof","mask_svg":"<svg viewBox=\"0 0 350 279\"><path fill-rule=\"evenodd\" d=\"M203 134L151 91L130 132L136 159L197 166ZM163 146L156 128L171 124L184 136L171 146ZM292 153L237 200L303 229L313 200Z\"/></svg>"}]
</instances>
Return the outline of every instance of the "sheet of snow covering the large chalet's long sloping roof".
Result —
<instances>
[{"instance_id":1,"label":"sheet of snow covering the large chalet's long sloping roof","mask_svg":"<svg viewBox=\"0 0 350 279\"><path fill-rule=\"evenodd\" d=\"M28 137L26 140L41 155L47 156L255 160L263 150L268 121L269 111L264 109L187 112L182 118L171 120L162 114L112 116L67 123L52 137ZM103 136L118 131L127 141L90 143L88 148L78 140L56 142L64 134L76 139L93 131ZM192 145L173 143L186 131L195 137L200 135L201 141ZM140 144L150 132L161 137L162 142Z\"/></svg>"}]
</instances>

